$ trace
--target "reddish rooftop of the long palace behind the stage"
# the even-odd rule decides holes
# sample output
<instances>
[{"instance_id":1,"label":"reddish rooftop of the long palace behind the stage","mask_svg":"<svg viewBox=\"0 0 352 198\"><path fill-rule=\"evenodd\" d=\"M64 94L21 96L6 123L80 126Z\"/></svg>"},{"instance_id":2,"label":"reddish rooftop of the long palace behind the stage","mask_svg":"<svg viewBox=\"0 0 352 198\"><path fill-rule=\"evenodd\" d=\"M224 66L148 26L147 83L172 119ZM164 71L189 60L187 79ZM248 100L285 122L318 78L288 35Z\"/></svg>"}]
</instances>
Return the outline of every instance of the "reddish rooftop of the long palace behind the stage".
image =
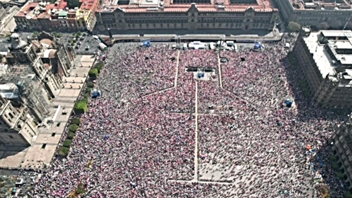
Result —
<instances>
[{"instance_id":1,"label":"reddish rooftop of the long palace behind the stage","mask_svg":"<svg viewBox=\"0 0 352 198\"><path fill-rule=\"evenodd\" d=\"M195 2L200 12L243 12L249 8L256 12L277 11L269 0L106 0L100 12L118 8L124 12L187 12L190 2Z\"/></svg>"}]
</instances>

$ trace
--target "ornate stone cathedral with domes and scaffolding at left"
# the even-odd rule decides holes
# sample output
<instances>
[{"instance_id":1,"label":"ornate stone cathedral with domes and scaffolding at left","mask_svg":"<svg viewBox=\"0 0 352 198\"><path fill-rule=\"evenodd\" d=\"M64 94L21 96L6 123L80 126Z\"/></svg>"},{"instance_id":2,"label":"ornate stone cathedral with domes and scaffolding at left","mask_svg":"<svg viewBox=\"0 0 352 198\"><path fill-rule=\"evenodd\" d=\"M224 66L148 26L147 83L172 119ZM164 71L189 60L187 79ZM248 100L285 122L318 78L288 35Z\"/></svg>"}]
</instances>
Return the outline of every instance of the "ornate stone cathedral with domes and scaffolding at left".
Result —
<instances>
[{"instance_id":1,"label":"ornate stone cathedral with domes and scaffolding at left","mask_svg":"<svg viewBox=\"0 0 352 198\"><path fill-rule=\"evenodd\" d=\"M0 70L0 144L31 145L76 54L45 32L26 40L13 33L10 39L7 67Z\"/></svg>"}]
</instances>

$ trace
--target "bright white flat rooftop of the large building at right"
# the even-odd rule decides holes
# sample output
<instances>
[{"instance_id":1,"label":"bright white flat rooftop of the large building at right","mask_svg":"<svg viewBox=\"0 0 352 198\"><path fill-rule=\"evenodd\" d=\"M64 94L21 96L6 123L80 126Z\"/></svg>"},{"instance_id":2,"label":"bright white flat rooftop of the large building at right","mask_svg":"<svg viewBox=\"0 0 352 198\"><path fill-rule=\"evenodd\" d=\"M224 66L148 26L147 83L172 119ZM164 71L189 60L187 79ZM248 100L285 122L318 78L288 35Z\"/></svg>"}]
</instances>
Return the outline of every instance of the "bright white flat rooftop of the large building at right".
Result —
<instances>
[{"instance_id":1,"label":"bright white flat rooftop of the large building at right","mask_svg":"<svg viewBox=\"0 0 352 198\"><path fill-rule=\"evenodd\" d=\"M324 30L303 38L322 75L352 87L352 31ZM348 69L345 69L348 68Z\"/></svg>"}]
</instances>

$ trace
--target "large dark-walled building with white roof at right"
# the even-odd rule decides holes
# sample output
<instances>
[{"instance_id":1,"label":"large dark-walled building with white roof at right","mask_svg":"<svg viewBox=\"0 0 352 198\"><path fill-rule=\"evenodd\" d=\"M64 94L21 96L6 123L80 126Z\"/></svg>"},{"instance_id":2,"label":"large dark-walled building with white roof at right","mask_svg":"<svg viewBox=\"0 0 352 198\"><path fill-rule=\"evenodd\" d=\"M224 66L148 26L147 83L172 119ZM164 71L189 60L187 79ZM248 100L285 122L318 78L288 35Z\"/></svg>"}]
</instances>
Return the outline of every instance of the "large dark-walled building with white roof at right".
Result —
<instances>
[{"instance_id":1,"label":"large dark-walled building with white roof at right","mask_svg":"<svg viewBox=\"0 0 352 198\"><path fill-rule=\"evenodd\" d=\"M294 53L315 104L352 107L352 31L301 34Z\"/></svg>"}]
</instances>

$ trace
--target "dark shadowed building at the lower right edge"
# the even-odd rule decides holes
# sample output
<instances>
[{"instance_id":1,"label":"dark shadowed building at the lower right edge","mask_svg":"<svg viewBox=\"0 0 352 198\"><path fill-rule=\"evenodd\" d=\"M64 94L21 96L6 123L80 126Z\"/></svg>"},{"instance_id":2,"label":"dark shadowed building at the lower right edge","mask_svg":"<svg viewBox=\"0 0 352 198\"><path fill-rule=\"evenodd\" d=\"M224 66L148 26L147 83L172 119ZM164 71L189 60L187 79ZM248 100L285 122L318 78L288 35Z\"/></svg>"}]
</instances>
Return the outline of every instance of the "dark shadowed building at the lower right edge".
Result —
<instances>
[{"instance_id":1,"label":"dark shadowed building at the lower right edge","mask_svg":"<svg viewBox=\"0 0 352 198\"><path fill-rule=\"evenodd\" d=\"M344 174L343 179L348 187L352 184L352 115L348 115L331 136L333 154L337 156L337 164Z\"/></svg>"}]
</instances>

